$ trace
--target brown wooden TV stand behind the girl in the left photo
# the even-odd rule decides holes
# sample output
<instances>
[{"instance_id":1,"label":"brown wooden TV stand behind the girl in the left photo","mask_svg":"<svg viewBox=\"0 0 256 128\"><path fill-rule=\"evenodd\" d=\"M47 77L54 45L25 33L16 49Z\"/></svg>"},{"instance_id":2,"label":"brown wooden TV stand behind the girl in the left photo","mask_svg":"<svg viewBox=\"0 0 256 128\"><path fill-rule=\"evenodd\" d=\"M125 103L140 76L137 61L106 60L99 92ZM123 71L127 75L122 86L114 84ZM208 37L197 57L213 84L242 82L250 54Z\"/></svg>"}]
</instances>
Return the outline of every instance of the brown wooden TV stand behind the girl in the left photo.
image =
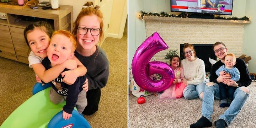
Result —
<instances>
[{"instance_id":1,"label":"brown wooden TV stand behind the girl in the left photo","mask_svg":"<svg viewBox=\"0 0 256 128\"><path fill-rule=\"evenodd\" d=\"M0 18L0 57L28 64L30 49L26 44L23 30L37 21L49 22L54 30L73 30L73 6L59 5L59 10L10 9L0 7L6 19ZM1 13L1 14L2 14Z\"/></svg>"}]
</instances>

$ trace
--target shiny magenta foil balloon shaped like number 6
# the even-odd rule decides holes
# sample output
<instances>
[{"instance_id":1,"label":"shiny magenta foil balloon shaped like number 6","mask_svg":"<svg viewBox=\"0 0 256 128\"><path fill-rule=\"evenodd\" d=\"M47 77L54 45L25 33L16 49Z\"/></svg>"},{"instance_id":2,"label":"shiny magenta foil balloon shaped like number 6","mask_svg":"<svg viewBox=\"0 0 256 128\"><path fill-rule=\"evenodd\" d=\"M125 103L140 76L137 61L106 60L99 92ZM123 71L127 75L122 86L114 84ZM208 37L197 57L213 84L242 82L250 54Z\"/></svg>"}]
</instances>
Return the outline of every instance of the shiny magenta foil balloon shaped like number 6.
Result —
<instances>
[{"instance_id":1,"label":"shiny magenta foil balloon shaped like number 6","mask_svg":"<svg viewBox=\"0 0 256 128\"><path fill-rule=\"evenodd\" d=\"M154 54L167 49L167 44L157 32L148 37L136 50L132 60L134 81L139 87L149 92L161 92L171 86L175 74L171 66L164 62L149 62ZM149 76L160 74L160 80L152 80Z\"/></svg>"}]
</instances>

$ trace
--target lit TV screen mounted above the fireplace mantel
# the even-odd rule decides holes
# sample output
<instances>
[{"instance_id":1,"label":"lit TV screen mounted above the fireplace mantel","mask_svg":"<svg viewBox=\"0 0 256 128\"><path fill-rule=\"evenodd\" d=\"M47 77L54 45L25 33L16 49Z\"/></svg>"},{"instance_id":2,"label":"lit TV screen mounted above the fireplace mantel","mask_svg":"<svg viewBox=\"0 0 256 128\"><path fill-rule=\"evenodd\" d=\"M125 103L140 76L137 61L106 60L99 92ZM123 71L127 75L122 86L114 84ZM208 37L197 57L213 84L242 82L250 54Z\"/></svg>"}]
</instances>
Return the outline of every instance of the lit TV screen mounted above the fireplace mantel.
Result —
<instances>
[{"instance_id":1,"label":"lit TV screen mounted above the fireplace mantel","mask_svg":"<svg viewBox=\"0 0 256 128\"><path fill-rule=\"evenodd\" d=\"M171 11L232 15L233 0L171 0Z\"/></svg>"}]
</instances>

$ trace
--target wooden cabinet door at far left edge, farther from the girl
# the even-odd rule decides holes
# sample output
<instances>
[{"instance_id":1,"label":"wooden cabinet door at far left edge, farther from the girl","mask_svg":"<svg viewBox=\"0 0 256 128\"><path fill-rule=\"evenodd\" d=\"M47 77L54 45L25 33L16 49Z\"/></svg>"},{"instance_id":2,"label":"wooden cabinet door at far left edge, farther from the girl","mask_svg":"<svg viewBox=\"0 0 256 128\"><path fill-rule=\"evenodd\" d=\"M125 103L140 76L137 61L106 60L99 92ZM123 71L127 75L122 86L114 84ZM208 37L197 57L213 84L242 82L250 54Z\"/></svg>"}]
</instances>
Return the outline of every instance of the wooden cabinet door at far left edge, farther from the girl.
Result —
<instances>
[{"instance_id":1,"label":"wooden cabinet door at far left edge, farther from the girl","mask_svg":"<svg viewBox=\"0 0 256 128\"><path fill-rule=\"evenodd\" d=\"M0 25L0 57L17 60L9 27Z\"/></svg>"}]
</instances>

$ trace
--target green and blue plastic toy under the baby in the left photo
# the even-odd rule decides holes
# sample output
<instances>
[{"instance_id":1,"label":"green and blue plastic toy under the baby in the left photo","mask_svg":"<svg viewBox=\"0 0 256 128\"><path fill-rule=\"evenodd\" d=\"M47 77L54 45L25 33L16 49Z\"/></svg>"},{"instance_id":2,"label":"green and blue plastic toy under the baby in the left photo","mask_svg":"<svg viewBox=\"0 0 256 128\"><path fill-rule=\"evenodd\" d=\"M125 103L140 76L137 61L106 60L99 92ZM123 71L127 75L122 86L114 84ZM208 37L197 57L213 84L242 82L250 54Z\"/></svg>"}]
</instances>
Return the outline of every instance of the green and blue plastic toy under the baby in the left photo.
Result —
<instances>
[{"instance_id":1,"label":"green and blue plastic toy under the baby in the left photo","mask_svg":"<svg viewBox=\"0 0 256 128\"><path fill-rule=\"evenodd\" d=\"M37 83L35 86L39 86L34 87L37 90L42 85ZM66 102L57 105L50 102L49 90L50 87L33 92L35 94L16 108L0 128L91 128L76 110L73 110L72 117L64 120L61 110Z\"/></svg>"}]
</instances>

